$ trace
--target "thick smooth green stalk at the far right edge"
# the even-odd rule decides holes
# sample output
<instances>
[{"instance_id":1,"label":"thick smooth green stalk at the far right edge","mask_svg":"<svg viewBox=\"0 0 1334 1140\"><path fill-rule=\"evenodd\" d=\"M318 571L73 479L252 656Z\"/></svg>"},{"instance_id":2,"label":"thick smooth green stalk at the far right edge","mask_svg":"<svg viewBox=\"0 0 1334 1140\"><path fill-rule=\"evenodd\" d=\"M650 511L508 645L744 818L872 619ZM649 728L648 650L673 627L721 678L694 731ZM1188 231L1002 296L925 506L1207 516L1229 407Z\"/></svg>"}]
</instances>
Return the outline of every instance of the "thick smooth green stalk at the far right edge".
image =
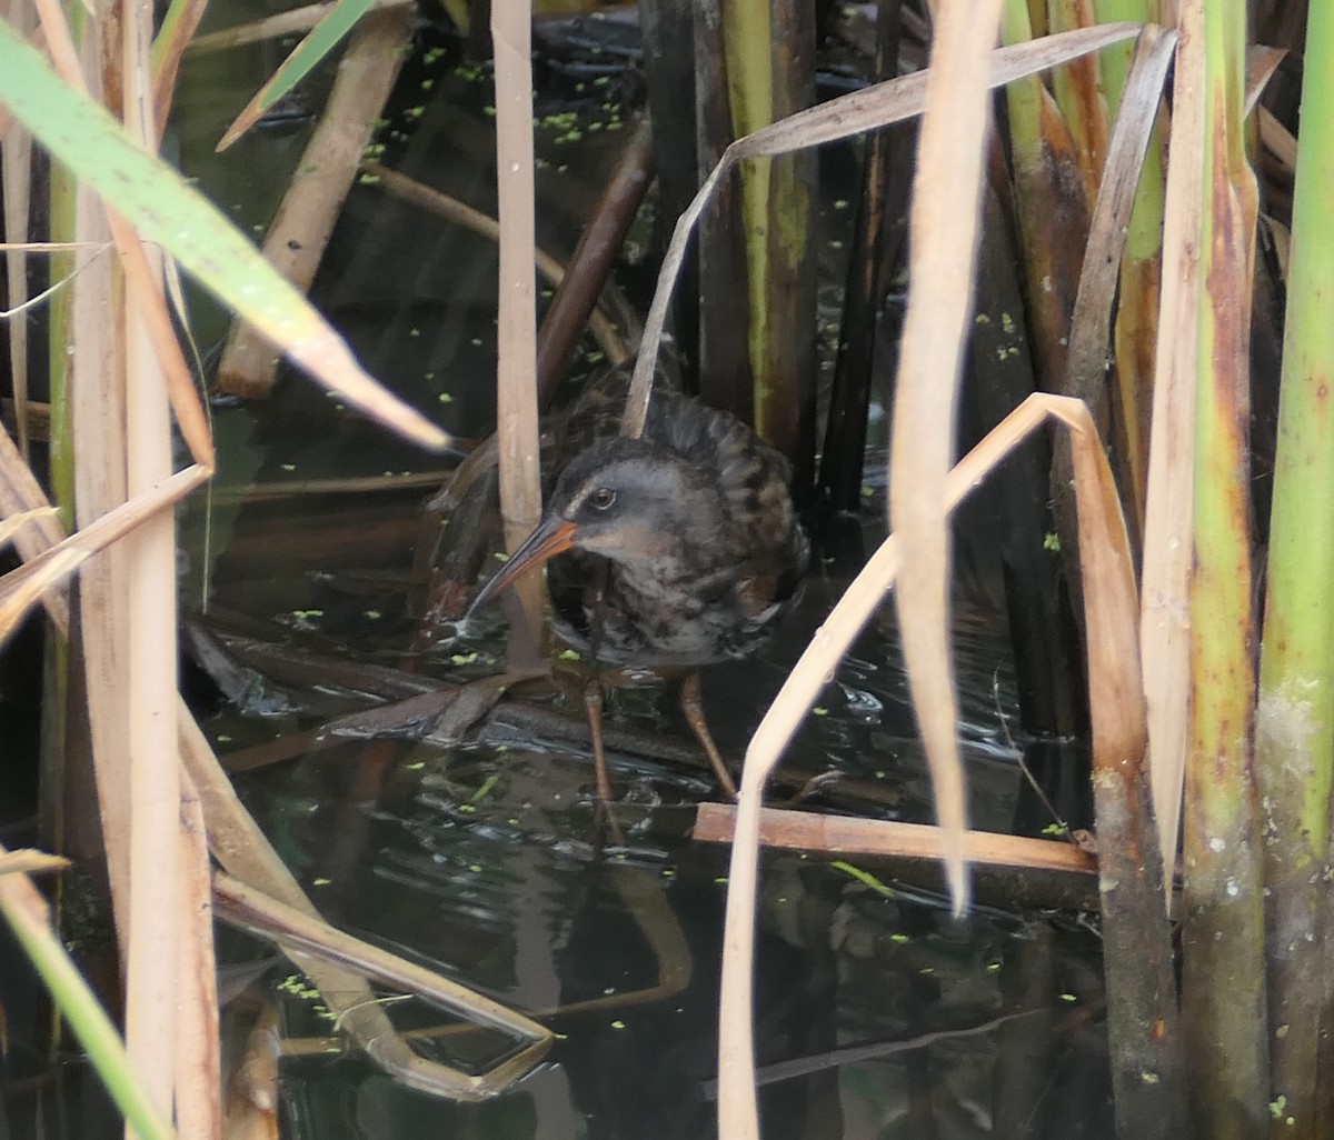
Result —
<instances>
[{"instance_id":1,"label":"thick smooth green stalk at the far right edge","mask_svg":"<svg viewBox=\"0 0 1334 1140\"><path fill-rule=\"evenodd\" d=\"M1315 1140L1318 1071L1330 1017L1323 941L1330 936L1334 764L1334 9L1311 5L1302 79L1301 163L1293 199L1278 453L1270 516L1255 767L1265 841L1273 1088L1285 1136ZM1317 1000L1319 999L1319 1000Z\"/></svg>"}]
</instances>

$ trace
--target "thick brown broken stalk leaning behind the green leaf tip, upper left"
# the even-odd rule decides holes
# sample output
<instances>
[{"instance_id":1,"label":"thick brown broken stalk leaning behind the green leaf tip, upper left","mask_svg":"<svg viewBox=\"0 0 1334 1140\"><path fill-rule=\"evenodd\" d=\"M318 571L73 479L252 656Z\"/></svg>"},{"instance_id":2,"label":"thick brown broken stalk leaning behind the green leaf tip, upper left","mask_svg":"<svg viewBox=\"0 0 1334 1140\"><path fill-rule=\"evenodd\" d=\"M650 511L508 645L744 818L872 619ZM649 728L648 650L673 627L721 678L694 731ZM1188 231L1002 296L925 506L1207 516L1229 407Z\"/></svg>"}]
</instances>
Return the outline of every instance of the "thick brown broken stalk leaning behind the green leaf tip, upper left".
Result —
<instances>
[{"instance_id":1,"label":"thick brown broken stalk leaning behind the green leaf tip, upper left","mask_svg":"<svg viewBox=\"0 0 1334 1140\"><path fill-rule=\"evenodd\" d=\"M264 236L264 256L303 293L324 259L411 39L410 8L372 12L358 25L319 125ZM268 337L237 320L217 365L217 385L236 396L267 395L276 379L277 355Z\"/></svg>"}]
</instances>

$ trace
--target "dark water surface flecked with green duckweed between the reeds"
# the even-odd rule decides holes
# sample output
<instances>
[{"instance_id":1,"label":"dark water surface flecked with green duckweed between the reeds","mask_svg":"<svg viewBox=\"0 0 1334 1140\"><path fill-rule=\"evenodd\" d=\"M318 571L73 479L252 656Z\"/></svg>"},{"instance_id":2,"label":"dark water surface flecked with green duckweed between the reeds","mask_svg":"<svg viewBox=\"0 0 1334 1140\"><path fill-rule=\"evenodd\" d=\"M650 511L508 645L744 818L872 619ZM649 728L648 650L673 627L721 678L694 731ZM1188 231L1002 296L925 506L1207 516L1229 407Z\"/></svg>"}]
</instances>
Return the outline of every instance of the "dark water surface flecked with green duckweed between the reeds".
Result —
<instances>
[{"instance_id":1,"label":"dark water surface flecked with green duckweed between the reeds","mask_svg":"<svg viewBox=\"0 0 1334 1140\"><path fill-rule=\"evenodd\" d=\"M443 51L427 63L432 45ZM297 113L255 132L223 160L208 152L276 59L276 49L247 48L185 73L184 165L247 225L267 220L309 120ZM406 75L396 96L403 117L391 116L402 137L390 137L386 161L492 209L486 80L430 29ZM632 85L619 64L587 72L548 63L539 76L539 120L574 111L584 127L599 116L606 123L604 104ZM320 81L301 97L319 107ZM547 121L538 132L547 161L539 233L564 255L616 132L583 129L572 140L568 119ZM840 209L826 209L831 227ZM315 293L392 387L452 431L490 428L495 263L486 241L359 185ZM221 320L197 304L201 335L220 336ZM418 612L407 572L423 489L395 489L386 479L380 493L253 493L256 484L292 491L335 476L420 472L434 460L339 415L296 377L284 377L268 407L216 415L216 497L207 513L200 501L183 520L187 608L197 609L207 591L213 628L281 643L296 656L448 680L500 668L499 611L467 636L434 631L426 652L408 653ZM874 539L883 488L868 492L864 529ZM790 628L755 660L706 675L707 713L734 764L843 584L816 568ZM1003 619L975 600L984 591L972 596L956 629L971 819L1003 831L1021 787L1014 679ZM205 696L205 731L223 753L281 741L364 707L354 689L257 668L243 701ZM548 697L543 707L578 709L578 701ZM611 707L618 725L688 748L668 692L622 691ZM452 1104L396 1085L359 1055L320 1052L334 1029L317 996L285 963L275 965L259 987L277 995L284 1035L307 1044L283 1063L284 1136L715 1135L727 853L690 837L695 804L712 795L703 769L614 753L614 832L595 811L587 749L532 732L492 724L463 744L347 739L295 753L237 783L321 912L519 1009L552 1011L543 1020L559 1037L512 1091ZM870 813L931 819L887 609L826 688L788 764L803 775L834 768L876 789ZM764 1136L1110 1136L1098 941L1078 916L979 907L954 920L938 896L890 881L871 860L848 863L864 875L830 856L763 856L756 1039ZM224 936L221 948L232 960L260 952L239 935ZM390 1008L404 1027L443 1020ZM450 1055L451 1040L430 1048Z\"/></svg>"}]
</instances>

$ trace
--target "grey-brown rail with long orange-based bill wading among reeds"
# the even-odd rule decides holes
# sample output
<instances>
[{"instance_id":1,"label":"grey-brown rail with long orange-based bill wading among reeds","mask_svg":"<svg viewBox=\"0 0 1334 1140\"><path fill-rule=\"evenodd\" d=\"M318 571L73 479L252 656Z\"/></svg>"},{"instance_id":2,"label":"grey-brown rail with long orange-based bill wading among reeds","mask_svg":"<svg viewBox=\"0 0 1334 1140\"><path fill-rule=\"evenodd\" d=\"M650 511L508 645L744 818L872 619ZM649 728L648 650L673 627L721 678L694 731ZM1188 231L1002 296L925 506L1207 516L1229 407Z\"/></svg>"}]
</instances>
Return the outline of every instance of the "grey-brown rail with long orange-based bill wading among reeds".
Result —
<instances>
[{"instance_id":1,"label":"grey-brown rail with long orange-based bill wading among reeds","mask_svg":"<svg viewBox=\"0 0 1334 1140\"><path fill-rule=\"evenodd\" d=\"M682 711L735 796L704 723L699 668L751 653L795 599L810 545L791 468L735 416L668 387L655 387L640 439L618 435L627 376L606 373L556 423L546 515L470 613L550 560L558 636L608 665L684 668ZM586 705L607 801L600 697L594 683Z\"/></svg>"}]
</instances>

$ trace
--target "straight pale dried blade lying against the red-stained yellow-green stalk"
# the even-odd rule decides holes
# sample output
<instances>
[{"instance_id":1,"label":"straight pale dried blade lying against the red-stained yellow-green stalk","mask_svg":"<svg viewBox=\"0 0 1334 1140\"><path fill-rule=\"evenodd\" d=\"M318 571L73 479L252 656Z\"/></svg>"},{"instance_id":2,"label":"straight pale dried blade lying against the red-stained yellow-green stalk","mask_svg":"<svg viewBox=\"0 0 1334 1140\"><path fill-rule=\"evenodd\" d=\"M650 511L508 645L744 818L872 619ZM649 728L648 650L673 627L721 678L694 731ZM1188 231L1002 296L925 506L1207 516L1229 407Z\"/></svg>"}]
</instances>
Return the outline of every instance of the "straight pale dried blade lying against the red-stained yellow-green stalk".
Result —
<instances>
[{"instance_id":1,"label":"straight pale dried blade lying against the red-stained yellow-green stalk","mask_svg":"<svg viewBox=\"0 0 1334 1140\"><path fill-rule=\"evenodd\" d=\"M1190 605L1194 500L1199 235L1203 201L1205 88L1178 49L1171 163L1163 215L1149 493L1141 569L1139 652L1147 705L1149 764L1163 883L1173 881L1190 736ZM1165 901L1171 904L1170 889Z\"/></svg>"}]
</instances>

